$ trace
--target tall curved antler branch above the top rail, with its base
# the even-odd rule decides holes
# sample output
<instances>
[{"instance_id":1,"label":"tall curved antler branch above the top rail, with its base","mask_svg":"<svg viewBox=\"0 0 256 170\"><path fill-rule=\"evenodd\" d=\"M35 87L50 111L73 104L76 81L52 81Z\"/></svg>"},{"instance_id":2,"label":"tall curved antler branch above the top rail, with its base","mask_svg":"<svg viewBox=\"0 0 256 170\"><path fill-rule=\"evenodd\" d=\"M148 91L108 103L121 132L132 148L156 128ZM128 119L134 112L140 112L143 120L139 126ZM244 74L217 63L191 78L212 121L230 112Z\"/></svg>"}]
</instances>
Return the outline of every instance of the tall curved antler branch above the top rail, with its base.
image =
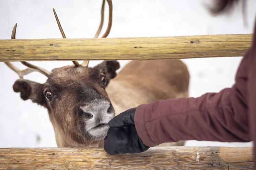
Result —
<instances>
[{"instance_id":1,"label":"tall curved antler branch above the top rail, with its base","mask_svg":"<svg viewBox=\"0 0 256 170\"><path fill-rule=\"evenodd\" d=\"M110 32L111 26L112 26L112 13L113 13L113 5L112 5L112 0L107 0L108 7L109 7L109 12L108 12L108 26L107 30L105 31L104 35L101 38L106 38ZM104 8L105 8L105 0L102 1L102 7L101 7L101 24L98 28L98 31L94 38L98 38L102 26L103 26L103 21L104 21ZM83 63L81 64L82 66L88 67L89 60L84 60Z\"/></svg>"}]
</instances>

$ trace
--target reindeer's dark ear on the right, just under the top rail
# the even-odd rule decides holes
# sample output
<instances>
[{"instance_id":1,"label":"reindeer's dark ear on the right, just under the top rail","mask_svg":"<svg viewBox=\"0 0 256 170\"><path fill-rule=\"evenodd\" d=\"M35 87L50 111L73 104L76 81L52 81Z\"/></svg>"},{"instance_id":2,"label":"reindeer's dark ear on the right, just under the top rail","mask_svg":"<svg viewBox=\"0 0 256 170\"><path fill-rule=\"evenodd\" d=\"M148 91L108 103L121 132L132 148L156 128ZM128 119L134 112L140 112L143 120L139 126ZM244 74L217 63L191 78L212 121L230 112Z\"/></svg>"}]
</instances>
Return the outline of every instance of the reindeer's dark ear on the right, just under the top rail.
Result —
<instances>
[{"instance_id":1,"label":"reindeer's dark ear on the right, just under the top rail","mask_svg":"<svg viewBox=\"0 0 256 170\"><path fill-rule=\"evenodd\" d=\"M120 68L120 64L117 61L103 61L102 63L96 65L97 68L105 74L106 79L109 81L116 77L116 70Z\"/></svg>"}]
</instances>

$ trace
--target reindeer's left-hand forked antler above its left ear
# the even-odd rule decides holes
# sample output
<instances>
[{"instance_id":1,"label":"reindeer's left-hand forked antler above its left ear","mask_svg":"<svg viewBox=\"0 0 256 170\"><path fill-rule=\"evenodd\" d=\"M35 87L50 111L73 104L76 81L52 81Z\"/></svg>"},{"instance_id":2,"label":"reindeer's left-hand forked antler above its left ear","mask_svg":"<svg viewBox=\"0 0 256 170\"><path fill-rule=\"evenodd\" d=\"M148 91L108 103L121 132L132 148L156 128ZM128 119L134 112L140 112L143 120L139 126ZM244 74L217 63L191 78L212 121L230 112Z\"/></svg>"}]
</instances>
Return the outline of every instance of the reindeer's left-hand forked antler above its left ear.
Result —
<instances>
[{"instance_id":1,"label":"reindeer's left-hand forked antler above its left ear","mask_svg":"<svg viewBox=\"0 0 256 170\"><path fill-rule=\"evenodd\" d=\"M16 28L17 28L17 23L14 25L13 29L12 29L12 37L11 39L15 39L16 36ZM17 73L19 75L20 78L23 78L24 75L30 74L33 71L38 71L39 73L42 73L43 75L45 75L46 77L49 77L50 72L47 71L44 68L35 66L33 64L30 64L28 62L21 62L23 65L27 66L28 68L21 70L17 67L15 67L12 63L10 62L4 62L9 68L11 68L15 73Z\"/></svg>"}]
</instances>

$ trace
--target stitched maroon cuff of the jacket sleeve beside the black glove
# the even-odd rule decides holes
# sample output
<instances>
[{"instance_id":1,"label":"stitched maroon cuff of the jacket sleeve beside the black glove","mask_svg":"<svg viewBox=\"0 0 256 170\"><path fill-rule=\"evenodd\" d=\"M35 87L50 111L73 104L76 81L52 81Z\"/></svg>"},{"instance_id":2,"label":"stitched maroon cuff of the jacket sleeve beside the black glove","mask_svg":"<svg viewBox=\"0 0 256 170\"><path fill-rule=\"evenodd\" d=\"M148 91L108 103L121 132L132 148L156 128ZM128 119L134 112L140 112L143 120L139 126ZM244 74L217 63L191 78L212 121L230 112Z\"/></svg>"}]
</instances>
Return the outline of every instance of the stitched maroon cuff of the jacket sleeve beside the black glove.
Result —
<instances>
[{"instance_id":1,"label":"stitched maroon cuff of the jacket sleeve beside the black glove","mask_svg":"<svg viewBox=\"0 0 256 170\"><path fill-rule=\"evenodd\" d=\"M144 119L144 114L145 114L145 109L147 108L147 104L142 104L139 105L136 110L135 110L135 115L134 115L134 123L135 123L135 128L136 131L140 137L140 139L142 140L142 142L149 146L156 146L158 144L154 143L151 139L150 136L148 134L148 131L145 127L145 119Z\"/></svg>"}]
</instances>

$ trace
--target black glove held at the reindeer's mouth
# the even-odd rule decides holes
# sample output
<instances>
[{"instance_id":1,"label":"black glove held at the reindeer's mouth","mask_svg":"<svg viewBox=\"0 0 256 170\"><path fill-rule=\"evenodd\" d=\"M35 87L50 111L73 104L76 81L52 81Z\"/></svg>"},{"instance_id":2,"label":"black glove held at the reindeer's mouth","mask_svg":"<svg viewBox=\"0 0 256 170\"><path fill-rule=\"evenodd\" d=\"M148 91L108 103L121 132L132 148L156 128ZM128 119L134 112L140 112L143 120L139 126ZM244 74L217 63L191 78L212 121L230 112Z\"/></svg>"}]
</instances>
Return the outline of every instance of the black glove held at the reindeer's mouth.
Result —
<instances>
[{"instance_id":1,"label":"black glove held at the reindeer's mouth","mask_svg":"<svg viewBox=\"0 0 256 170\"><path fill-rule=\"evenodd\" d=\"M110 155L144 152L148 150L135 129L136 108L120 113L108 122L109 129L104 139L104 149Z\"/></svg>"}]
</instances>

